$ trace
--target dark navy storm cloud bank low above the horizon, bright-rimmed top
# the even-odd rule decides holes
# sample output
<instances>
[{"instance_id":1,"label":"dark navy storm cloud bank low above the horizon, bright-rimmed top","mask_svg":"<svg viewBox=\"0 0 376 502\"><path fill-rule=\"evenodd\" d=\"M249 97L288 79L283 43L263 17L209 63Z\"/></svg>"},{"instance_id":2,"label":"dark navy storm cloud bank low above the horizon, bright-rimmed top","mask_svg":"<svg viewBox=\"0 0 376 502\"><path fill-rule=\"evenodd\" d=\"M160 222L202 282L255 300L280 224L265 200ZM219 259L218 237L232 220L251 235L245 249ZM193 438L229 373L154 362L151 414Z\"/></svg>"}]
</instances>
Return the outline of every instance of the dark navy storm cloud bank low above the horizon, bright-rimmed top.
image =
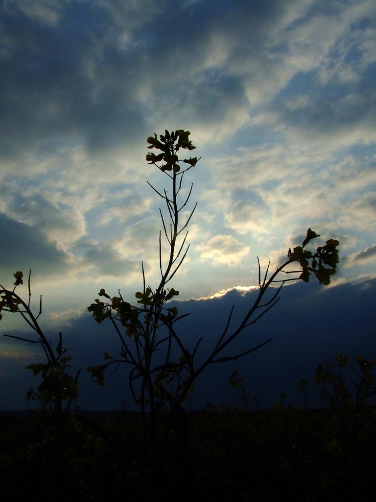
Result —
<instances>
[{"instance_id":1,"label":"dark navy storm cloud bank low above the horizon, bright-rimmed top","mask_svg":"<svg viewBox=\"0 0 376 502\"><path fill-rule=\"evenodd\" d=\"M198 364L216 346L232 306L235 305L235 310L229 335L243 320L256 295L257 290L247 294L233 290L216 299L171 302L170 306L176 305L179 314L191 312L190 316L175 325L186 347L192 351L198 338L203 336L197 353ZM240 353L269 337L272 338L271 342L238 361L211 364L195 383L192 395L195 407L201 409L209 401L239 405L236 393L227 384L228 376L235 368L239 369L240 375L248 376L247 385L258 395L262 407L278 402L282 392L286 392L287 399L299 407L301 403L296 386L302 378L310 381L309 406L322 406L313 376L316 366L324 358L331 361L339 352L349 355L351 359L358 354L367 359L376 356L375 295L375 280L331 288L313 282L285 287L278 304L245 330L222 355ZM80 367L103 363L105 350L113 356L120 350L121 343L111 323L98 325L88 313L72 321L70 326L61 326L59 329L72 355L72 372ZM52 338L56 336L56 332L51 333ZM4 367L6 374L2 375L3 388L7 389L7 394L2 397L2 408L25 408L25 392L32 381L30 372L24 369L25 356L20 359L20 344L17 340L5 350L9 356ZM30 363L33 357L35 359L35 355L30 353ZM79 404L82 408L119 409L120 396L123 399L130 397L125 369L119 368L114 374L109 371L104 388L94 384L89 373L83 369L79 380ZM14 374L20 378L14 379ZM32 381L33 385L36 380ZM13 392L10 392L11 389ZM130 409L136 409L133 402L130 405Z\"/></svg>"}]
</instances>

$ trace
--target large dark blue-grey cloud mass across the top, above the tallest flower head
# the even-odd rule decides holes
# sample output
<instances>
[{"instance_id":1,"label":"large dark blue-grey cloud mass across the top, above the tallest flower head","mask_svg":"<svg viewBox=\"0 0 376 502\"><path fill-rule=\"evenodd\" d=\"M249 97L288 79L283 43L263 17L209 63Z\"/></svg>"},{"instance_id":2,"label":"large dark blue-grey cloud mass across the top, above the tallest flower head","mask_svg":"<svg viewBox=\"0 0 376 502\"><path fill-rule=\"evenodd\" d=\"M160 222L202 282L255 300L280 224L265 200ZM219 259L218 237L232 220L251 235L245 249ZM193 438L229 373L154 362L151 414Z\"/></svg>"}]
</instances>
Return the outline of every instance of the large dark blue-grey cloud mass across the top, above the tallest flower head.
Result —
<instances>
[{"instance_id":1,"label":"large dark blue-grey cloud mass across the top, above the tallest flower head","mask_svg":"<svg viewBox=\"0 0 376 502\"><path fill-rule=\"evenodd\" d=\"M55 25L32 26L3 6L0 119L8 127L1 155L40 154L64 142L92 152L118 148L137 141L150 121L232 133L246 122L252 94L274 95L299 71L286 59L284 30L298 18L304 26L311 4L223 2L213 9L203 2L188 12L169 2L116 0L58 9L51 0L35 5L59 13ZM182 20L185 29L172 29ZM362 106L369 112L369 99L347 111Z\"/></svg>"}]
</instances>

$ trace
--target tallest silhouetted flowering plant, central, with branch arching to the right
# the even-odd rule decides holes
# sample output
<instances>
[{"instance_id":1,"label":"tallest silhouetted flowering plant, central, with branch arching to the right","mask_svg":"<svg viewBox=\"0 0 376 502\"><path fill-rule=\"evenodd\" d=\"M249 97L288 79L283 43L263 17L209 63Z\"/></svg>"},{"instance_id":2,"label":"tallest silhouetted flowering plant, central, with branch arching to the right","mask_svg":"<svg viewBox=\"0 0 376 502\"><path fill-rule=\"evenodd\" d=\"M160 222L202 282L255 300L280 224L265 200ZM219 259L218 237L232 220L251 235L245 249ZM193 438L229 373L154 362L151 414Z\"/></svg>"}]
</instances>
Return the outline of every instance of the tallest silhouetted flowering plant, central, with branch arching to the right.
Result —
<instances>
[{"instance_id":1,"label":"tallest silhouetted flowering plant, central, with branch arching to the right","mask_svg":"<svg viewBox=\"0 0 376 502\"><path fill-rule=\"evenodd\" d=\"M180 212L189 202L193 188L193 184L191 184L187 197L179 201L178 196L182 188L183 176L186 171L195 167L200 160L197 157L179 160L178 151L191 151L196 148L192 145L192 141L189 140L189 136L188 131L178 130L172 133L165 131L165 134L160 135L159 139L155 134L154 137L149 137L147 140L148 148L155 148L161 153L157 155L148 153L146 160L165 174L172 185L171 193L168 193L166 189L157 190L149 184L154 192L163 199L167 214L166 218L166 216L163 216L162 210L159 209L163 234L169 246L168 258L163 268L161 232L159 232L159 269L161 275L159 285L155 290L146 285L142 264L143 290L135 294L138 306L125 301L120 292L119 296L110 296L104 289L101 289L99 296L103 298L103 301L96 299L95 303L88 307L98 323L106 319L112 322L121 342L120 357L114 357L105 352L104 356L107 362L89 367L88 370L91 371L96 382L103 385L104 372L109 366L115 364L117 367L120 363L130 365L129 387L135 402L141 406L145 433L146 406L148 406L151 440L154 445L155 424L158 414L168 404L169 409L164 436L166 437L175 413L186 399L187 393L193 390L193 384L198 376L209 364L238 360L270 341L269 338L261 344L232 356L220 355L243 330L254 324L277 303L279 292L287 281L300 279L308 282L309 277L313 274L320 284L327 285L330 283L330 277L335 273L338 263L337 240L327 240L326 244L319 246L314 253L305 249L305 246L312 239L319 236L310 228L302 245L294 247L293 250L289 249L287 260L277 267L270 277L268 277L270 264L262 277L260 262L258 261L259 294L255 303L249 308L240 324L232 329L230 329L230 326L234 307L231 309L224 331L218 336L216 345L210 354L206 356L204 362L197 365L196 355L203 337L199 338L192 352L187 350L176 331L176 323L189 314L178 315L177 307L168 308L165 306L169 300L179 294L172 287L166 288L166 285L175 276L186 256L189 248L188 245L184 249L187 232L181 238L181 243L178 244L177 239L187 227L197 206L196 203L189 216L183 223L180 223ZM180 166L181 162L186 164L187 167ZM169 224L167 224L168 220ZM300 265L301 269L298 271L288 270L290 264L295 262ZM281 273L293 274L294 277L280 279ZM271 298L264 300L265 293L275 283L278 283L279 287L273 290ZM162 349L164 350L163 353ZM171 354L175 349L180 355L172 360ZM140 395L136 395L135 383L139 381ZM174 386L173 390L171 390L171 384Z\"/></svg>"}]
</instances>

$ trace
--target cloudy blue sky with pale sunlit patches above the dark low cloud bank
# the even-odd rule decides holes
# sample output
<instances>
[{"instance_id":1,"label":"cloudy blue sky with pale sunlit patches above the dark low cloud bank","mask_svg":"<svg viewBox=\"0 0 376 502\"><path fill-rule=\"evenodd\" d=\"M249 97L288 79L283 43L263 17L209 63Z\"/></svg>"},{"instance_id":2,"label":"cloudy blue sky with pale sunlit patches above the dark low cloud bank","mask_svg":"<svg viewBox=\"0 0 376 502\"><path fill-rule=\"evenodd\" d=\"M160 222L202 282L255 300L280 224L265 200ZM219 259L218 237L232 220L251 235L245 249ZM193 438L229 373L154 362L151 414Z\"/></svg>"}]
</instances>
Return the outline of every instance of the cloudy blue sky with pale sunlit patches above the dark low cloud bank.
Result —
<instances>
[{"instance_id":1,"label":"cloudy blue sky with pale sunlit patches above the dark low cloud bank","mask_svg":"<svg viewBox=\"0 0 376 502\"><path fill-rule=\"evenodd\" d=\"M375 21L373 0L4 0L0 283L32 270L52 336L93 330L100 288L132 301L141 262L155 287L163 201L147 181L168 178L146 163L146 139L184 129L201 157L184 177L198 206L171 284L201 299L187 306L241 301L256 257L277 266L308 227L317 245L340 242L330 298L374 293ZM348 309L336 312L342 326ZM369 309L362 323L369 341ZM27 330L14 315L0 328ZM0 352L14 381L30 346L2 337Z\"/></svg>"}]
</instances>

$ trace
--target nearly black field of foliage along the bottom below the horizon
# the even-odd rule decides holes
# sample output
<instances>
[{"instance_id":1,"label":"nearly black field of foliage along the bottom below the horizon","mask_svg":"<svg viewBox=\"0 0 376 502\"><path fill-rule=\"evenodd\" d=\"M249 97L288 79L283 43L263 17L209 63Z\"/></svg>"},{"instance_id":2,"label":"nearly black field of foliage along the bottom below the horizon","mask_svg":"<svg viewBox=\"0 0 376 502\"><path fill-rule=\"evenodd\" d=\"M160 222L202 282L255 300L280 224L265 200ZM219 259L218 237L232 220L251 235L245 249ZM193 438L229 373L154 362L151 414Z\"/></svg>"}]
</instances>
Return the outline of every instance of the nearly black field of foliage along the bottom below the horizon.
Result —
<instances>
[{"instance_id":1,"label":"nearly black field of foliage along the bottom below the horizon","mask_svg":"<svg viewBox=\"0 0 376 502\"><path fill-rule=\"evenodd\" d=\"M362 501L376 482L376 410L364 408L360 417L355 411L339 423L331 410L208 407L176 420L157 473L140 420L127 414L71 415L60 456L38 413L4 420L2 494L41 501Z\"/></svg>"}]
</instances>

